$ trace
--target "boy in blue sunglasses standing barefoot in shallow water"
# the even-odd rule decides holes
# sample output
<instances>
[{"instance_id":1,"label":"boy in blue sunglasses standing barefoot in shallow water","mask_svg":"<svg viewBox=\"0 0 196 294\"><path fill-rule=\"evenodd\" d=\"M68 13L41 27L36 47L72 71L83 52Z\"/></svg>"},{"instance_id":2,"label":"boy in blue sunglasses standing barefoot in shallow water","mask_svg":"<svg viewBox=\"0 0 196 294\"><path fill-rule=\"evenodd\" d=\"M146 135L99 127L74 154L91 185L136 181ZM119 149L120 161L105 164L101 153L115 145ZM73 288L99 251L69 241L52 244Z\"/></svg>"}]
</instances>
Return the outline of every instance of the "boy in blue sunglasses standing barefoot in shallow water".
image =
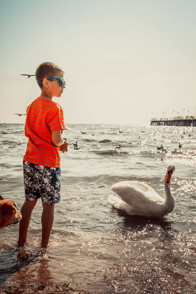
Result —
<instances>
[{"instance_id":1,"label":"boy in blue sunglasses standing barefoot in shallow water","mask_svg":"<svg viewBox=\"0 0 196 294\"><path fill-rule=\"evenodd\" d=\"M51 62L38 66L36 81L41 95L26 110L25 136L28 138L24 155L25 203L21 209L18 245L27 242L31 213L41 197L42 247L47 247L54 220L54 204L60 201L60 155L68 150L62 137L65 129L63 109L52 98L61 97L65 89L64 71Z\"/></svg>"}]
</instances>

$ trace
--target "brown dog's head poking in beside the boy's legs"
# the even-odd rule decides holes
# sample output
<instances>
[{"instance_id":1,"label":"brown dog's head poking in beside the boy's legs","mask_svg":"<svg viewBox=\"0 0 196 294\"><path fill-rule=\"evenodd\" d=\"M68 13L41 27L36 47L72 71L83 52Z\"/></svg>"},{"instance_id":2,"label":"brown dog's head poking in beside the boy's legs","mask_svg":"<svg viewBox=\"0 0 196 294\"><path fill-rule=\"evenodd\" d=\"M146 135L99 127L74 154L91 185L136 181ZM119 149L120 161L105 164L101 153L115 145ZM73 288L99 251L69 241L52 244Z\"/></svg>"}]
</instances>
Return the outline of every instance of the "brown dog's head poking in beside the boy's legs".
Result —
<instances>
[{"instance_id":1,"label":"brown dog's head poking in beside the boy's legs","mask_svg":"<svg viewBox=\"0 0 196 294\"><path fill-rule=\"evenodd\" d=\"M9 224L18 223L21 219L22 214L17 211L16 203L0 196L0 229Z\"/></svg>"}]
</instances>

